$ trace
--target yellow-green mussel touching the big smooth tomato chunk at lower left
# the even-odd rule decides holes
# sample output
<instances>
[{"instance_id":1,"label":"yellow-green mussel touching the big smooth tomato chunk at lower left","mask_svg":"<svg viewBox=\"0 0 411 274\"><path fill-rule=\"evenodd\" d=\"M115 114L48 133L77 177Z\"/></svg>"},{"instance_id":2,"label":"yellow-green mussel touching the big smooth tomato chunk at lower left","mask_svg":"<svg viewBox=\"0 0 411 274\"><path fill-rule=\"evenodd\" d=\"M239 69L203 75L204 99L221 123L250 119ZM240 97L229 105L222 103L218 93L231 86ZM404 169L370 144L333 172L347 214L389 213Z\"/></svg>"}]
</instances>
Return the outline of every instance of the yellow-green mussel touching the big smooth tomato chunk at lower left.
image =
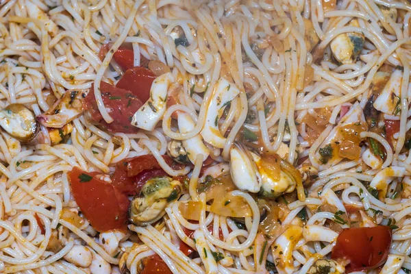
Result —
<instances>
[{"instance_id":1,"label":"yellow-green mussel touching the big smooth tomato chunk at lower left","mask_svg":"<svg viewBox=\"0 0 411 274\"><path fill-rule=\"evenodd\" d=\"M182 184L170 177L153 177L133 198L129 207L129 221L134 225L149 225L161 219L166 206L182 195Z\"/></svg>"}]
</instances>

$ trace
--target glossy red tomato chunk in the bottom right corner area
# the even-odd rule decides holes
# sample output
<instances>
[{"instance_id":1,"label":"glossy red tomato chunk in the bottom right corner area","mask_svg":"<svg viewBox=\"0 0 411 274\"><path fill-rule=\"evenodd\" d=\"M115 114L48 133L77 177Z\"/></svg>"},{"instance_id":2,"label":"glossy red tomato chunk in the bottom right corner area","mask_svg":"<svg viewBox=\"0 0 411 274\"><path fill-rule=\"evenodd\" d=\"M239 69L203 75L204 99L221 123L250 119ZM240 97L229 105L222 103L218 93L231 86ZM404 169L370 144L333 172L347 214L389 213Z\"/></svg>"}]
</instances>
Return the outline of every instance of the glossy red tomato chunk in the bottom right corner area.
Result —
<instances>
[{"instance_id":1,"label":"glossy red tomato chunk in the bottom right corner area","mask_svg":"<svg viewBox=\"0 0 411 274\"><path fill-rule=\"evenodd\" d=\"M331 258L350 260L347 273L375 269L386 261L391 238L387 226L346 228L338 235Z\"/></svg>"}]
</instances>

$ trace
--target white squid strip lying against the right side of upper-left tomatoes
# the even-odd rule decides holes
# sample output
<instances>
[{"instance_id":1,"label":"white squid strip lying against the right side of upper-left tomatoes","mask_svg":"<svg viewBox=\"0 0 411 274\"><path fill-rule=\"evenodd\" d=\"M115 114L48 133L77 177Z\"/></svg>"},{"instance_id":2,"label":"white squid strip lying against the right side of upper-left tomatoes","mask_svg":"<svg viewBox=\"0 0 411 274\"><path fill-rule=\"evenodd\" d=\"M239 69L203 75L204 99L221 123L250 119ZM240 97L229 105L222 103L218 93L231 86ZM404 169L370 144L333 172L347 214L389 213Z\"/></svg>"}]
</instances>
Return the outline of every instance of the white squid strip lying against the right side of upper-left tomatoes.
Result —
<instances>
[{"instance_id":1,"label":"white squid strip lying against the right side of upper-left tomatoes","mask_svg":"<svg viewBox=\"0 0 411 274\"><path fill-rule=\"evenodd\" d=\"M171 73L164 73L155 78L150 89L150 98L134 114L132 125L152 131L166 112L167 90L173 84Z\"/></svg>"}]
</instances>

